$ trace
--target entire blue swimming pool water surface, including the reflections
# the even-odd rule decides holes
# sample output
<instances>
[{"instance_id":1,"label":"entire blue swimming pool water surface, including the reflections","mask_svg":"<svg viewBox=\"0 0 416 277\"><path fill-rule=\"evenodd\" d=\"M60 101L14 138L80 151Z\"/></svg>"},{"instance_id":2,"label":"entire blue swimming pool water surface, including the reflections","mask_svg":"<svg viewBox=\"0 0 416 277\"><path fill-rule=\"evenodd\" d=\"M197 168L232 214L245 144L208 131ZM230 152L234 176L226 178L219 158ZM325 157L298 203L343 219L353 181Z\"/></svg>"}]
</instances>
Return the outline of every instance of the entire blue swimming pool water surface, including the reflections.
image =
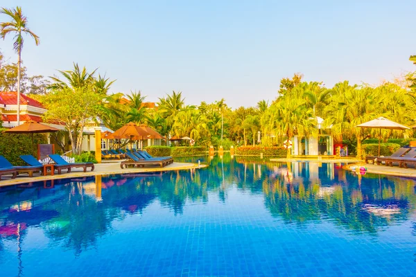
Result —
<instances>
[{"instance_id":1,"label":"entire blue swimming pool water surface, including the reflections","mask_svg":"<svg viewBox=\"0 0 416 277\"><path fill-rule=\"evenodd\" d=\"M415 276L416 182L229 156L0 189L0 276Z\"/></svg>"}]
</instances>

